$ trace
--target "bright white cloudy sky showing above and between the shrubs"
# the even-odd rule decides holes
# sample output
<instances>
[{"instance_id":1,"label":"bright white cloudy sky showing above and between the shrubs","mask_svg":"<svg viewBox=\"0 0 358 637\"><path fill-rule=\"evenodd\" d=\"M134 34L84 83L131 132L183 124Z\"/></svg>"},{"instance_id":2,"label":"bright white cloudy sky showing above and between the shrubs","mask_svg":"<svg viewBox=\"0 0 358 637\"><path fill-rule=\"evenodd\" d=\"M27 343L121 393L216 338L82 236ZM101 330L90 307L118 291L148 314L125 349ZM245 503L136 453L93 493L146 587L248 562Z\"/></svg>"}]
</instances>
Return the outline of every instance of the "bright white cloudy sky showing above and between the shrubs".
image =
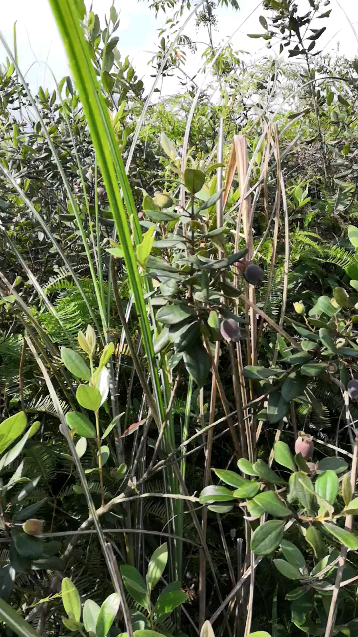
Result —
<instances>
[{"instance_id":1,"label":"bright white cloudy sky showing above and between the shrubs","mask_svg":"<svg viewBox=\"0 0 358 637\"><path fill-rule=\"evenodd\" d=\"M304 8L307 0L297 0L299 8ZM341 8L346 11L350 21L358 31L358 1L339 0ZM87 7L90 1L85 0ZM99 14L101 20L109 13L112 0L94 0L94 11ZM259 0L239 0L240 11L233 11L227 8L218 9L218 25L213 32L215 44L218 44L234 31L232 43L236 50L247 51L252 57L268 54L262 39L248 38L248 33L262 32L258 18L260 4ZM134 64L138 76L143 78L145 87L149 87L152 82L150 73L152 69L147 62L157 48L158 30L166 20L164 13L159 14L155 19L154 12L148 9L146 0L116 0L115 6L120 13L120 27L116 33L120 41L118 48L122 59L129 55L129 59ZM320 38L320 45L325 46L325 51L339 46L340 53L347 57L357 55L358 43L352 32L347 18L338 6L336 0L332 0L332 13L329 20L325 21L327 31ZM13 25L17 23L18 59L23 73L26 73L32 91L36 92L39 85L52 88L54 81L46 63L52 69L57 80L69 74L66 53L61 43L61 38L57 32L57 27L52 17L48 0L11 0L4 2L1 6L0 30L3 33L10 47L13 47ZM185 18L183 18L185 19ZM241 27L241 23L246 20ZM185 32L193 39L203 42L207 41L207 34L204 29L197 32L194 20L188 25ZM194 75L200 65L203 44L198 45L197 53L189 55L187 59L187 73ZM275 55L275 50L269 54ZM6 54L0 43L0 62L4 61ZM176 89L175 79L166 80L165 92L172 92Z\"/></svg>"}]
</instances>

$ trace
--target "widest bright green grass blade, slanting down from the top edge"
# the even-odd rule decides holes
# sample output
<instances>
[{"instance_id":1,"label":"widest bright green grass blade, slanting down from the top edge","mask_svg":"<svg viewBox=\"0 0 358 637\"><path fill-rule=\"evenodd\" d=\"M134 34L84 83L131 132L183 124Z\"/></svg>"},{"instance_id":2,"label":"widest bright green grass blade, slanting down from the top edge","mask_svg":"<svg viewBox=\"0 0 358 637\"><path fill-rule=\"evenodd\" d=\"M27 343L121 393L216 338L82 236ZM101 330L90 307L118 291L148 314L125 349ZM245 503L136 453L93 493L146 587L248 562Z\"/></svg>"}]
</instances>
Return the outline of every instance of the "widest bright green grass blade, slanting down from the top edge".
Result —
<instances>
[{"instance_id":1,"label":"widest bright green grass blade, slanting down from the top edge","mask_svg":"<svg viewBox=\"0 0 358 637\"><path fill-rule=\"evenodd\" d=\"M68 54L69 65L75 80L76 89L82 102L99 166L101 167L118 237L124 251L125 264L127 266L136 309L140 317L141 333L143 335L145 352L148 357L155 399L159 407L158 411L162 412L160 385L152 345L152 334L150 332L147 309L143 297L143 289L141 287L141 277L138 273L136 257L128 227L128 218L120 193L120 187L122 187L128 215L132 215L134 219L134 242L138 243L141 238L141 231L131 187L127 175L125 175L124 164L118 149L108 108L104 102L100 85L92 66L89 46L83 36L79 19L78 3L75 0L49 0L49 3Z\"/></svg>"}]
</instances>

